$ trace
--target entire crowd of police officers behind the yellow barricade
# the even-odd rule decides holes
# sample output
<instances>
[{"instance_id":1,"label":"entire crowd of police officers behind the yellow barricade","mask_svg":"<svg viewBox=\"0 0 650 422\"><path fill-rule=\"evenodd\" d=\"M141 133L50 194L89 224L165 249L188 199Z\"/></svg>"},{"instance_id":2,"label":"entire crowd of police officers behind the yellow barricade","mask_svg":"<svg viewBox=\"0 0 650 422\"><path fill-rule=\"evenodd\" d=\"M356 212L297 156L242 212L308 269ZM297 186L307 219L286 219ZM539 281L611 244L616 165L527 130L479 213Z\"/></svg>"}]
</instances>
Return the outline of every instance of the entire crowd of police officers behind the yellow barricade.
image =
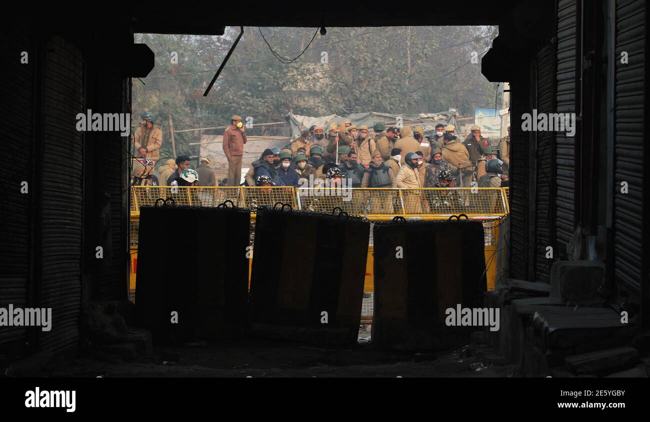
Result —
<instances>
[{"instance_id":1,"label":"entire crowd of police officers behind the yellow barricade","mask_svg":"<svg viewBox=\"0 0 650 422\"><path fill-rule=\"evenodd\" d=\"M239 186L246 129L240 116L232 116L224 131L223 149L228 160L227 186ZM510 127L499 146L481 136L478 126L464 140L453 125L435 125L424 136L422 127L385 127L377 122L371 136L367 126L349 120L332 123L325 132L313 125L283 149L266 149L252 162L244 185L346 188L454 188L508 186ZM144 112L135 131L138 156L133 184L161 184L153 174L162 132L153 114ZM153 155L155 159L153 158ZM178 156L159 167L166 186L215 186L209 160L201 158L198 171L190 158ZM162 181L161 180L161 181Z\"/></svg>"}]
</instances>

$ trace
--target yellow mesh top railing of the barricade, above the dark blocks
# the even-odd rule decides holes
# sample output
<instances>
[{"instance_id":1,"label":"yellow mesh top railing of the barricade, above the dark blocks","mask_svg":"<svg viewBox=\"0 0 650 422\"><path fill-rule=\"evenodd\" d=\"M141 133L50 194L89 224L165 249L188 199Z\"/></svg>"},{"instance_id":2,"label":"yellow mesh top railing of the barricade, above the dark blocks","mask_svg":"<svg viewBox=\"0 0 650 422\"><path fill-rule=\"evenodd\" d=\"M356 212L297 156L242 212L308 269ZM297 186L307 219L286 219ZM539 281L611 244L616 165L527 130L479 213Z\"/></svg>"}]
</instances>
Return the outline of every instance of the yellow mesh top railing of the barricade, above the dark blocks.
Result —
<instances>
[{"instance_id":1,"label":"yellow mesh top railing of the barricade, above the dark blocks","mask_svg":"<svg viewBox=\"0 0 650 422\"><path fill-rule=\"evenodd\" d=\"M217 206L226 200L241 208L281 202L294 209L348 214L383 220L394 216L445 219L466 214L493 219L508 214L506 188L293 188L291 186L132 186L131 212L172 198L176 205ZM253 210L254 212L254 210Z\"/></svg>"}]
</instances>

